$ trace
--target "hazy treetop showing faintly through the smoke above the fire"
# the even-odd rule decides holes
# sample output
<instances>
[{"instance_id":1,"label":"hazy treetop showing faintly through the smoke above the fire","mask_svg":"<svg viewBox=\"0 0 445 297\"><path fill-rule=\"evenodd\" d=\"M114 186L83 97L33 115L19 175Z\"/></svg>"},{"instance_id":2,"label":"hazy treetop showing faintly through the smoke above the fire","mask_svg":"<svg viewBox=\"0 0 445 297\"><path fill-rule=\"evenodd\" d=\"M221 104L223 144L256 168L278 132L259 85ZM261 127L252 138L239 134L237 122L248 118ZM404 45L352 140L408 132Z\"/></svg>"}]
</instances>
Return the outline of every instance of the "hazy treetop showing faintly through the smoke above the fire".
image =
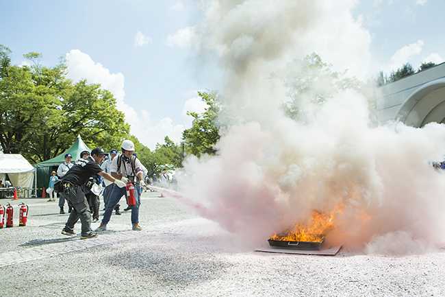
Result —
<instances>
[{"instance_id":1,"label":"hazy treetop showing faintly through the smoke above the fire","mask_svg":"<svg viewBox=\"0 0 445 297\"><path fill-rule=\"evenodd\" d=\"M359 91L361 83L355 78L344 78L342 73L331 71L332 65L322 62L320 56L312 53L303 60L293 60L279 75L288 89L290 102L283 104L285 114L292 119L300 116L303 105L323 104L333 94L348 88Z\"/></svg>"}]
</instances>

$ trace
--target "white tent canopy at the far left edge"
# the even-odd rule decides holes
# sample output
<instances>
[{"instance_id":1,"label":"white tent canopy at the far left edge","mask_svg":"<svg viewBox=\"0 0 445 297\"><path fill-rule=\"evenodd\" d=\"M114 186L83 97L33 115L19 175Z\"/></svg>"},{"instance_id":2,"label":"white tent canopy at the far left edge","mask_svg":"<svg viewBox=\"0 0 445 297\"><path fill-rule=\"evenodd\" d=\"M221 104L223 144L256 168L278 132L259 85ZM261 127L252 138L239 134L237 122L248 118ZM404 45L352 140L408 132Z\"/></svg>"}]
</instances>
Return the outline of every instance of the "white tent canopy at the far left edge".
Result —
<instances>
[{"instance_id":1,"label":"white tent canopy at the far left edge","mask_svg":"<svg viewBox=\"0 0 445 297\"><path fill-rule=\"evenodd\" d=\"M8 174L14 187L31 188L34 167L21 154L0 154L0 180Z\"/></svg>"}]
</instances>

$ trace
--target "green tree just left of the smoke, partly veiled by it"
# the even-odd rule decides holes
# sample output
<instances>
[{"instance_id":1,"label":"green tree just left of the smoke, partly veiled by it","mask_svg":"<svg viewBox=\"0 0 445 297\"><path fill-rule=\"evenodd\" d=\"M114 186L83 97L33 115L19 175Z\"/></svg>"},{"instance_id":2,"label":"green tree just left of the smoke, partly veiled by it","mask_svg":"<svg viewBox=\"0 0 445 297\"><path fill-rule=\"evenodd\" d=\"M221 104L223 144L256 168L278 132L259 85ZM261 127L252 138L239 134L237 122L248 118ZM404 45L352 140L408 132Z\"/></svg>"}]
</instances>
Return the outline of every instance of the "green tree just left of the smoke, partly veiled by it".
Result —
<instances>
[{"instance_id":1,"label":"green tree just left of the smoke, partly veiled by it","mask_svg":"<svg viewBox=\"0 0 445 297\"><path fill-rule=\"evenodd\" d=\"M194 117L193 126L182 132L186 152L200 157L202 154L216 154L214 145L220 139L218 115L221 102L217 91L198 92L199 97L207 104L205 112L201 115L196 112L187 112Z\"/></svg>"}]
</instances>

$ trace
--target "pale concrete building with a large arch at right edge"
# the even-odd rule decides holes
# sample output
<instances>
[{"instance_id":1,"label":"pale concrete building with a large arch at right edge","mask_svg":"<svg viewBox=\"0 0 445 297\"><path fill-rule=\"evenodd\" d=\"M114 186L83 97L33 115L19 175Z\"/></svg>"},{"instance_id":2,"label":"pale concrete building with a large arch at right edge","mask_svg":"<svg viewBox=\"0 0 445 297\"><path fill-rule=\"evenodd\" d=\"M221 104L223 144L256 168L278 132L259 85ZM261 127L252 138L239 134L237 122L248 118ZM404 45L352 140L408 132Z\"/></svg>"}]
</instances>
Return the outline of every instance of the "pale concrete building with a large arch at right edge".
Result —
<instances>
[{"instance_id":1,"label":"pale concrete building with a large arch at right edge","mask_svg":"<svg viewBox=\"0 0 445 297\"><path fill-rule=\"evenodd\" d=\"M376 91L379 122L400 120L422 127L445 121L445 63L392 82Z\"/></svg>"}]
</instances>

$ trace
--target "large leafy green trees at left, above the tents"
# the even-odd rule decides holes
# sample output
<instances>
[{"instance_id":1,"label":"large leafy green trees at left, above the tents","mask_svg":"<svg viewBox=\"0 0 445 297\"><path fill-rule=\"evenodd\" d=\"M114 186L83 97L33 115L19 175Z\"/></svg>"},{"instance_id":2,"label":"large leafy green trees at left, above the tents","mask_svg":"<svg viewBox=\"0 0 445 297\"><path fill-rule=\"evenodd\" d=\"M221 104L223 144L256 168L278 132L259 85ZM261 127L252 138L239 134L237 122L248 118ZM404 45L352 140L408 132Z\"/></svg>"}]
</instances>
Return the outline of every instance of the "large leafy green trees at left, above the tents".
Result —
<instances>
[{"instance_id":1,"label":"large leafy green trees at left, above the tents","mask_svg":"<svg viewBox=\"0 0 445 297\"><path fill-rule=\"evenodd\" d=\"M31 163L58 156L78 134L89 147L118 145L129 133L116 99L99 84L66 79L64 60L41 67L41 54L24 57L32 67L10 64L0 46L0 143L3 152L23 154Z\"/></svg>"}]
</instances>

